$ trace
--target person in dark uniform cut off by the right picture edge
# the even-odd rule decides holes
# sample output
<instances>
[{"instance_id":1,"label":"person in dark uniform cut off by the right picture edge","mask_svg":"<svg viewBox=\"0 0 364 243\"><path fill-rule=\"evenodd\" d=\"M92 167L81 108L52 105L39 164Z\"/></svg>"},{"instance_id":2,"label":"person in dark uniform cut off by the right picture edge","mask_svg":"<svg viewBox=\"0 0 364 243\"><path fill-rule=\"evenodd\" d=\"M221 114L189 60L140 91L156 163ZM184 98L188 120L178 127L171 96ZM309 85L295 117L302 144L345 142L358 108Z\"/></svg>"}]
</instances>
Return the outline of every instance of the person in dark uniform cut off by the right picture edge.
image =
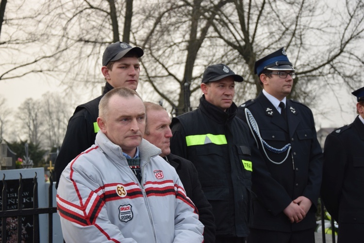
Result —
<instances>
[{"instance_id":1,"label":"person in dark uniform cut off by the right picture edge","mask_svg":"<svg viewBox=\"0 0 364 243\"><path fill-rule=\"evenodd\" d=\"M321 198L339 223L338 243L364 243L364 87L352 92L359 115L329 134Z\"/></svg>"}]
</instances>

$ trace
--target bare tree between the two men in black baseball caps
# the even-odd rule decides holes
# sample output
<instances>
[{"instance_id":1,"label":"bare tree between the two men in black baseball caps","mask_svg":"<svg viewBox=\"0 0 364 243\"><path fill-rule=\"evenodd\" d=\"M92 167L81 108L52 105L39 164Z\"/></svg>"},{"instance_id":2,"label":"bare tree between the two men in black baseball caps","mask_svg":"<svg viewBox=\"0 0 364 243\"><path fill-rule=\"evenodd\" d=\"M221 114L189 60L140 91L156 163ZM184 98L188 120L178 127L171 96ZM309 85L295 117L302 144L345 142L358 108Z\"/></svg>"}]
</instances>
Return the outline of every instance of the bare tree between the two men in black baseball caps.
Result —
<instances>
[{"instance_id":1,"label":"bare tree between the two men in black baseball caps","mask_svg":"<svg viewBox=\"0 0 364 243\"><path fill-rule=\"evenodd\" d=\"M206 54L209 47L203 45L218 9L228 2L157 1L143 9L146 18L142 22L150 31L142 44L147 53L142 75L176 115L190 110L190 96L199 90L201 72L218 59L214 53ZM205 18L208 11L212 14Z\"/></svg>"}]
</instances>

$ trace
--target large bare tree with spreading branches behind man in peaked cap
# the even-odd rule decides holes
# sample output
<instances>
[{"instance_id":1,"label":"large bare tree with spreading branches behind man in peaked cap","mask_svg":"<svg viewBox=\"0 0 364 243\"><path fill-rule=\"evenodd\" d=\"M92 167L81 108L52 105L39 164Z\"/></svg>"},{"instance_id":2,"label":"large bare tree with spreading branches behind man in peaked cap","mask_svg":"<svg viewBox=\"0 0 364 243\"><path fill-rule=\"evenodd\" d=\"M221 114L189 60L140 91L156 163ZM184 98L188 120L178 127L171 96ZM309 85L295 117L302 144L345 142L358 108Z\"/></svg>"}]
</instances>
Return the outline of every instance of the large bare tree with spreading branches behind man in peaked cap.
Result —
<instances>
[{"instance_id":1,"label":"large bare tree with spreading branches behind man in peaked cap","mask_svg":"<svg viewBox=\"0 0 364 243\"><path fill-rule=\"evenodd\" d=\"M255 61L282 46L298 74L291 97L306 104L321 95L322 88L344 84L352 90L363 83L362 0L346 0L340 10L316 0L232 2L215 18L213 34L236 50L233 63L248 67L243 73L245 88L255 91L250 97L262 90L254 75Z\"/></svg>"}]
</instances>

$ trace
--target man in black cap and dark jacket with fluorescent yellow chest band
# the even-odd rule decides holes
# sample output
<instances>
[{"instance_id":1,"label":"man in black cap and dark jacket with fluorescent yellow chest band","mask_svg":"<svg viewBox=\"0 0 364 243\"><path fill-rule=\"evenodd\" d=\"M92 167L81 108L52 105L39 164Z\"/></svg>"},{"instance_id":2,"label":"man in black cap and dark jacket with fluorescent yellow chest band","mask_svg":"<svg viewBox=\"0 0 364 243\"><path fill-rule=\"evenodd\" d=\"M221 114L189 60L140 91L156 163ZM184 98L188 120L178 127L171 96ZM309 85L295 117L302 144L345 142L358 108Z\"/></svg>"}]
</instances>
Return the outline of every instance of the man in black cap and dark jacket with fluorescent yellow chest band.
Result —
<instances>
[{"instance_id":1,"label":"man in black cap and dark jacket with fluorescent yellow chest band","mask_svg":"<svg viewBox=\"0 0 364 243\"><path fill-rule=\"evenodd\" d=\"M252 219L251 155L248 126L235 117L235 82L243 78L227 65L203 73L199 108L174 117L171 152L192 161L202 190L213 206L215 243L244 243ZM255 152L258 154L258 151Z\"/></svg>"}]
</instances>

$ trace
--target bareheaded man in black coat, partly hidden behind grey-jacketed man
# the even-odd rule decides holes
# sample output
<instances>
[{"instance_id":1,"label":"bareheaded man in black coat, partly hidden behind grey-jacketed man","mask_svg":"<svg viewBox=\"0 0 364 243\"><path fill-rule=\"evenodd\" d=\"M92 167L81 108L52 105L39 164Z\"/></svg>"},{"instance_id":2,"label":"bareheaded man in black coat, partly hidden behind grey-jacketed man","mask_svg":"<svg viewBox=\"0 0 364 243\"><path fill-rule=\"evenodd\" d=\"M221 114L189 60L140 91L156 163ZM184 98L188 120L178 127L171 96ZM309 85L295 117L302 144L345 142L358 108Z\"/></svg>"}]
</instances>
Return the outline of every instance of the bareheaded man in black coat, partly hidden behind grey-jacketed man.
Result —
<instances>
[{"instance_id":1,"label":"bareheaded man in black coat, partly hidden behind grey-jacketed man","mask_svg":"<svg viewBox=\"0 0 364 243\"><path fill-rule=\"evenodd\" d=\"M212 206L201 189L198 172L192 162L171 154L169 148L172 131L169 128L171 119L165 109L151 102L144 102L147 121L144 139L162 150L160 156L172 165L180 177L187 196L199 211L199 221L205 226L204 243L215 243L215 218Z\"/></svg>"}]
</instances>

